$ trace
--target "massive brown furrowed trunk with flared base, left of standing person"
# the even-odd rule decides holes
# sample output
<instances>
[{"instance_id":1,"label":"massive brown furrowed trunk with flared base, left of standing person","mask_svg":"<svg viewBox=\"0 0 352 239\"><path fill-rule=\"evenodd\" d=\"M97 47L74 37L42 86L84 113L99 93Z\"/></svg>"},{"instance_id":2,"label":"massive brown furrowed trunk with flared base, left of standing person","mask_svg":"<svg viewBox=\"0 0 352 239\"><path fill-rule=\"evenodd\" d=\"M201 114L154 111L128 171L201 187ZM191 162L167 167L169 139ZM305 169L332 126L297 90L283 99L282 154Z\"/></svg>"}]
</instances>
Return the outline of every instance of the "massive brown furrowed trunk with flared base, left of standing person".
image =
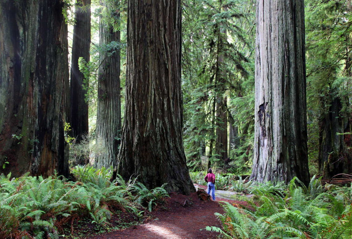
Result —
<instances>
[{"instance_id":1,"label":"massive brown furrowed trunk with flared base, left of standing person","mask_svg":"<svg viewBox=\"0 0 352 239\"><path fill-rule=\"evenodd\" d=\"M129 0L126 108L118 173L195 192L182 143L181 1Z\"/></svg>"}]
</instances>

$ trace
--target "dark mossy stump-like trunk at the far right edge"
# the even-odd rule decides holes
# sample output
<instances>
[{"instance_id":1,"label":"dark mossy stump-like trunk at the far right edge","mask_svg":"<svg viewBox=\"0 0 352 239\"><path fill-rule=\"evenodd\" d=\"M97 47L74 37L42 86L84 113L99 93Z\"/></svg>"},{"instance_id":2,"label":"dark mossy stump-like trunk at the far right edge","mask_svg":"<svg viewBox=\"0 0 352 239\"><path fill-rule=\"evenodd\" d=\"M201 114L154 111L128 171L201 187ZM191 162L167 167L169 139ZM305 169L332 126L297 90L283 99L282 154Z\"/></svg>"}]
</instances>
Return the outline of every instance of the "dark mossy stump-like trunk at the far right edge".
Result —
<instances>
[{"instance_id":1,"label":"dark mossy stump-like trunk at the far right edge","mask_svg":"<svg viewBox=\"0 0 352 239\"><path fill-rule=\"evenodd\" d=\"M331 95L336 95L336 92L331 92ZM352 140L351 134L348 134L351 132L350 115L342 112L339 97L335 97L329 105L319 125L319 172L324 178L352 172Z\"/></svg>"}]
</instances>

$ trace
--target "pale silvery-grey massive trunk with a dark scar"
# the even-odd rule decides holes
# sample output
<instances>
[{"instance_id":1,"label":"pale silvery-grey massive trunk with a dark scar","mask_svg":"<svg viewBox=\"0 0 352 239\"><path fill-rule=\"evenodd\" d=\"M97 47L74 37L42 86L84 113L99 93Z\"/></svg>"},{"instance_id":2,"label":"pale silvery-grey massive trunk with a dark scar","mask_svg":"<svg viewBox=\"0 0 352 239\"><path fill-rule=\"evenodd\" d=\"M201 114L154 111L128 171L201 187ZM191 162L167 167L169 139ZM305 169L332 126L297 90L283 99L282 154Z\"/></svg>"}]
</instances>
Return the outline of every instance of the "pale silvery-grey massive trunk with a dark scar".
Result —
<instances>
[{"instance_id":1,"label":"pale silvery-grey massive trunk with a dark scar","mask_svg":"<svg viewBox=\"0 0 352 239\"><path fill-rule=\"evenodd\" d=\"M257 0L253 171L309 182L303 0Z\"/></svg>"}]
</instances>

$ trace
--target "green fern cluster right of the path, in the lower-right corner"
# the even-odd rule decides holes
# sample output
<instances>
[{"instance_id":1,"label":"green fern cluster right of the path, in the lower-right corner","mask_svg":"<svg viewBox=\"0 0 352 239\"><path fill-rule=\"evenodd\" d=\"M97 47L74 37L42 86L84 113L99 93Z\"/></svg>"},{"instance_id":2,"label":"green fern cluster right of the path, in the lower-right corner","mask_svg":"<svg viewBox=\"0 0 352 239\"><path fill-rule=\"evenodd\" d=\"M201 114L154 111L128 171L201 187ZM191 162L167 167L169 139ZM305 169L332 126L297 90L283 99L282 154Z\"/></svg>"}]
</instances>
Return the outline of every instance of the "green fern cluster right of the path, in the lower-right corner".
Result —
<instances>
[{"instance_id":1,"label":"green fern cluster right of the path, in the lower-right corner","mask_svg":"<svg viewBox=\"0 0 352 239\"><path fill-rule=\"evenodd\" d=\"M290 184L258 184L250 207L224 203L225 214L216 214L223 229L207 227L228 238L352 238L352 186L322 186L315 177L309 186L294 178ZM254 210L253 210L254 209Z\"/></svg>"}]
</instances>

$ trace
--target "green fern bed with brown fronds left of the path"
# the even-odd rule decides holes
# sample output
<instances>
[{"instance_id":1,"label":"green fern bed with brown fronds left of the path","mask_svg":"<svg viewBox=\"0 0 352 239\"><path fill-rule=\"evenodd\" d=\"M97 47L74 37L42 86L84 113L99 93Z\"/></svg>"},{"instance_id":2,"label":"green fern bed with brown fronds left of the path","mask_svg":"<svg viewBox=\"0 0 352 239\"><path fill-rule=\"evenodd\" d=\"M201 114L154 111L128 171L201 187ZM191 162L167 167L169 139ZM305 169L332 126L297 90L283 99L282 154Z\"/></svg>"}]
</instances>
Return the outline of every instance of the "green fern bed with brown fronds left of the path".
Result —
<instances>
[{"instance_id":1,"label":"green fern bed with brown fronds left of the path","mask_svg":"<svg viewBox=\"0 0 352 239\"><path fill-rule=\"evenodd\" d=\"M118 175L110 182L112 168L76 166L72 174L77 181L1 174L0 238L59 238L65 228L73 233L80 220L107 227L119 212L142 219L145 210L168 197L164 185L148 190L137 178L126 182Z\"/></svg>"}]
</instances>

